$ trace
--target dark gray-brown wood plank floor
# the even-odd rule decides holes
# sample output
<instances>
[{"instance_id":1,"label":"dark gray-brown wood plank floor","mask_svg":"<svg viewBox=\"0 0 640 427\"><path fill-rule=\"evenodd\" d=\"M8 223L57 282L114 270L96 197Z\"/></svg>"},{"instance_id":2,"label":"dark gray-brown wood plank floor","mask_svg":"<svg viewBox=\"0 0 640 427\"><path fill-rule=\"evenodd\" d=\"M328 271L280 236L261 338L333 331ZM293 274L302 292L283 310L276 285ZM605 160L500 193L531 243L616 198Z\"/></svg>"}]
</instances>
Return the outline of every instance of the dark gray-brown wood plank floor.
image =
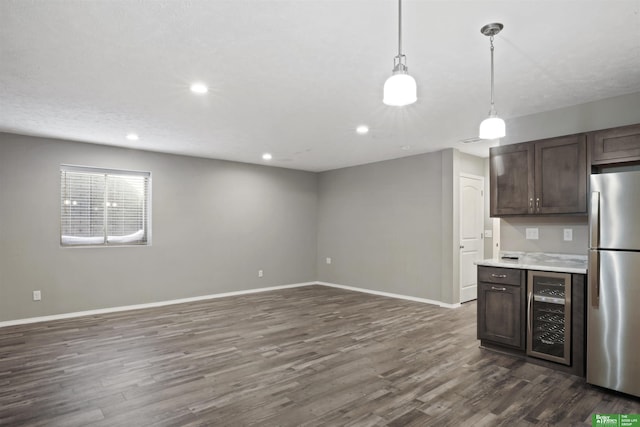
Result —
<instances>
[{"instance_id":1,"label":"dark gray-brown wood plank floor","mask_svg":"<svg viewBox=\"0 0 640 427\"><path fill-rule=\"evenodd\" d=\"M478 347L444 309L324 286L0 329L3 426L591 425L640 401Z\"/></svg>"}]
</instances>

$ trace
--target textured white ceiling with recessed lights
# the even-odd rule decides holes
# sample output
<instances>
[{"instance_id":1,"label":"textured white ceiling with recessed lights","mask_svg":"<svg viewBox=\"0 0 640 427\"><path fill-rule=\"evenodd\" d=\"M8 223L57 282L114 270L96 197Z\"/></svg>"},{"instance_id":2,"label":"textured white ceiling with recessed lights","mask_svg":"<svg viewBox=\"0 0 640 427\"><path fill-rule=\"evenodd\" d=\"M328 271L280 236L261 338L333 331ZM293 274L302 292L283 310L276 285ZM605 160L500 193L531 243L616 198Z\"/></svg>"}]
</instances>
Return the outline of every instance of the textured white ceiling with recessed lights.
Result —
<instances>
[{"instance_id":1,"label":"textured white ceiling with recessed lights","mask_svg":"<svg viewBox=\"0 0 640 427\"><path fill-rule=\"evenodd\" d=\"M322 171L478 155L496 36L509 118L640 91L640 0L411 1L409 107L382 103L395 0L0 1L0 131ZM209 93L189 91L194 81ZM355 133L367 124L366 136ZM139 141L125 135L135 132ZM402 147L409 150L403 150Z\"/></svg>"}]
</instances>

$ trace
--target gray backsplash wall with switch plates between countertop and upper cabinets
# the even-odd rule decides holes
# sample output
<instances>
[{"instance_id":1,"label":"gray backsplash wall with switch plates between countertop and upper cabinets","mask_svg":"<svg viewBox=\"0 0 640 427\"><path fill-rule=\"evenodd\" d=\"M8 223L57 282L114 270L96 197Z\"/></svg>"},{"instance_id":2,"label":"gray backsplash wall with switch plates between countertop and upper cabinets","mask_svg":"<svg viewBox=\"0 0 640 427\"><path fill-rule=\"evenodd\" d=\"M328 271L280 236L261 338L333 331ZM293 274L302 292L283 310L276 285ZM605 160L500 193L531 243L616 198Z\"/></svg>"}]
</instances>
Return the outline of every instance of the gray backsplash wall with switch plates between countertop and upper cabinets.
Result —
<instances>
[{"instance_id":1,"label":"gray backsplash wall with switch plates between countertop and upper cabinets","mask_svg":"<svg viewBox=\"0 0 640 427\"><path fill-rule=\"evenodd\" d=\"M527 228L538 230L538 239L526 238ZM573 239L564 240L571 229ZM586 255L589 250L589 225L586 216L502 218L500 247L503 251L549 252Z\"/></svg>"}]
</instances>

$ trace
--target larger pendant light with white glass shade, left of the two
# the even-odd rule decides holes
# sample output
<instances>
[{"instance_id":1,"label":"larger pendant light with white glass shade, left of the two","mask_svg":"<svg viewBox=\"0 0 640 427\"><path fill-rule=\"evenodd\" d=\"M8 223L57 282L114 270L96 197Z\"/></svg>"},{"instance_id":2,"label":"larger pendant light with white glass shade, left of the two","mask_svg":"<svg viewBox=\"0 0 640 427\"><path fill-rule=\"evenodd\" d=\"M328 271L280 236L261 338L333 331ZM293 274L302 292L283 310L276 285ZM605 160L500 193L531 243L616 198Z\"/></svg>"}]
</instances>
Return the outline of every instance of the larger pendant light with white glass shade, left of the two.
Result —
<instances>
[{"instance_id":1,"label":"larger pendant light with white glass shade, left of the two","mask_svg":"<svg viewBox=\"0 0 640 427\"><path fill-rule=\"evenodd\" d=\"M382 102L402 107L418 100L416 81L408 74L407 58L402 54L402 0L398 0L398 55L393 58L393 75L384 83Z\"/></svg>"}]
</instances>

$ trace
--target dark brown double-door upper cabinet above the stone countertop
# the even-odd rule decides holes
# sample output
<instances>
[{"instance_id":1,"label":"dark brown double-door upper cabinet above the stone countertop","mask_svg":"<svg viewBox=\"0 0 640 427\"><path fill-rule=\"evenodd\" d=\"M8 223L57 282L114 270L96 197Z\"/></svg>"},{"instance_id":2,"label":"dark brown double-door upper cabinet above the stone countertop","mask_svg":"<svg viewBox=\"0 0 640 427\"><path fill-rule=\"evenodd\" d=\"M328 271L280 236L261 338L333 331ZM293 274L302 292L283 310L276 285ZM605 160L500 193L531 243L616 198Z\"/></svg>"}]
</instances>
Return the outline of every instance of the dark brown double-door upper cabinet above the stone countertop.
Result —
<instances>
[{"instance_id":1,"label":"dark brown double-door upper cabinet above the stone countertop","mask_svg":"<svg viewBox=\"0 0 640 427\"><path fill-rule=\"evenodd\" d=\"M494 147L491 216L587 213L585 134Z\"/></svg>"}]
</instances>

